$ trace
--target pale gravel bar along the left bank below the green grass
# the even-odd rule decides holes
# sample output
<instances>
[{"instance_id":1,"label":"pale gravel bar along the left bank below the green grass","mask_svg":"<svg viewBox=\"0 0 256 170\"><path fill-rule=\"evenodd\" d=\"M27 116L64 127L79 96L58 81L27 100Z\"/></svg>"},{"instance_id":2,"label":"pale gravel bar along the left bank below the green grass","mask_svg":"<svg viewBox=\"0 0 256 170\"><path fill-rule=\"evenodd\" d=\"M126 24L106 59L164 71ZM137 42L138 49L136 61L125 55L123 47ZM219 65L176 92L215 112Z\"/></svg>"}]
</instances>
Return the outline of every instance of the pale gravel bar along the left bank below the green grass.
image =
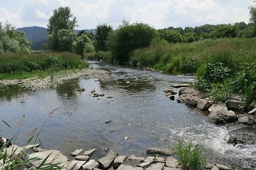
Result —
<instances>
[{"instance_id":1,"label":"pale gravel bar along the left bank below the green grass","mask_svg":"<svg viewBox=\"0 0 256 170\"><path fill-rule=\"evenodd\" d=\"M107 81L110 79L110 76L107 71L87 68L76 71L63 71L58 74L47 76L46 78L36 77L27 78L24 80L0 80L0 86L20 85L26 89L39 90L55 87L58 84L76 78L97 78L100 81Z\"/></svg>"}]
</instances>

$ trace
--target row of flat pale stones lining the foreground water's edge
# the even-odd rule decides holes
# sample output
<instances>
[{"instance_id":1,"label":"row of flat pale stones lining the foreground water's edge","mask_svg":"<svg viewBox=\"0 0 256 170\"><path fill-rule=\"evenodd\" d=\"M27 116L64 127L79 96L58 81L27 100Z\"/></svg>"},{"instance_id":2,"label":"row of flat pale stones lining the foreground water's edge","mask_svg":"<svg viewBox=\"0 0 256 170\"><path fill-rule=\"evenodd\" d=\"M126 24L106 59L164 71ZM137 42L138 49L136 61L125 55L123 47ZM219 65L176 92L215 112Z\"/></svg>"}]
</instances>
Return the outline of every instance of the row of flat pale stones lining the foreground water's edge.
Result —
<instances>
[{"instance_id":1,"label":"row of flat pale stones lining the foreground water's edge","mask_svg":"<svg viewBox=\"0 0 256 170\"><path fill-rule=\"evenodd\" d=\"M170 150L163 148L148 148L146 158L136 157L131 155L118 155L114 150L106 150L106 155L98 160L90 159L93 153L97 149L75 150L70 153L72 159L68 160L67 157L61 154L58 150L43 150L36 148L39 145L28 145L20 148L17 145L7 149L7 155L17 156L19 154L29 153L29 150L33 150L33 153L28 154L28 159L39 158L31 162L28 169L36 170L38 166L48 157L45 161L45 165L58 164L59 167L65 170L99 170L99 169L117 169L117 170L182 170L179 162L173 156ZM15 151L14 154L12 152ZM0 167L1 169L2 167ZM219 164L207 164L205 169L231 169L230 167L219 165Z\"/></svg>"}]
</instances>

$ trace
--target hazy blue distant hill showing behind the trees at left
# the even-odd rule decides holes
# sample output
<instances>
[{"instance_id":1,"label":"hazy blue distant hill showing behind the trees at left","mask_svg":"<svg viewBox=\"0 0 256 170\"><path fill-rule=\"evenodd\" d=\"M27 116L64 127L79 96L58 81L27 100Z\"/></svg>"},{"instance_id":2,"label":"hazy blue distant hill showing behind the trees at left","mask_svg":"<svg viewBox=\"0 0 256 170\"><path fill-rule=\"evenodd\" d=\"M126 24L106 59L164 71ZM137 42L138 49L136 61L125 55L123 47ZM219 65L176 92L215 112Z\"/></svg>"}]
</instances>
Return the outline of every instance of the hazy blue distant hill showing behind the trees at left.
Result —
<instances>
[{"instance_id":1,"label":"hazy blue distant hill showing behind the trees at left","mask_svg":"<svg viewBox=\"0 0 256 170\"><path fill-rule=\"evenodd\" d=\"M43 44L47 43L48 31L44 27L21 27L15 29L15 31L24 31L26 34L26 38L28 41L31 41L31 50L43 50ZM76 30L77 34L81 30ZM94 29L84 29L86 32L92 32L92 34L96 34Z\"/></svg>"}]
</instances>

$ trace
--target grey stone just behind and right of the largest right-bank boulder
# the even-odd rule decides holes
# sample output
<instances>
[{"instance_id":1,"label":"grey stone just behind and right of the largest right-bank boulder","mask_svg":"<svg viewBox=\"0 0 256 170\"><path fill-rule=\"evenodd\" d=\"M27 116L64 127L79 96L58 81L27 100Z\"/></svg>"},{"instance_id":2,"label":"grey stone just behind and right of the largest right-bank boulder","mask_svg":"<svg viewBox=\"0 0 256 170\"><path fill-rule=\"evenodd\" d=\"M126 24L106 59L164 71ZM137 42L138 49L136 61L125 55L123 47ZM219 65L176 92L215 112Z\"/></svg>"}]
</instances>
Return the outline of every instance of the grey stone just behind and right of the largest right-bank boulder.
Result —
<instances>
[{"instance_id":1,"label":"grey stone just behind and right of the largest right-bank boulder","mask_svg":"<svg viewBox=\"0 0 256 170\"><path fill-rule=\"evenodd\" d=\"M246 99L244 96L236 95L232 96L226 101L226 106L229 110L241 110L246 104Z\"/></svg>"}]
</instances>

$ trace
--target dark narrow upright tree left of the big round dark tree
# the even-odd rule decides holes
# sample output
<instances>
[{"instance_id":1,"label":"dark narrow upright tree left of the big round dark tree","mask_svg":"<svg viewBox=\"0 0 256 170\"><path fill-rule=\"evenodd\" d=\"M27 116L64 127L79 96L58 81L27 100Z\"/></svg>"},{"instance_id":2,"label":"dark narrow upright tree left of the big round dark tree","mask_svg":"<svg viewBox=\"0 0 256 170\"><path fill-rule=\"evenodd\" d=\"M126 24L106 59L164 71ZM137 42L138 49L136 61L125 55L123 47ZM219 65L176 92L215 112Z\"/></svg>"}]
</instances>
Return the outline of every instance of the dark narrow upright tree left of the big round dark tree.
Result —
<instances>
[{"instance_id":1,"label":"dark narrow upright tree left of the big round dark tree","mask_svg":"<svg viewBox=\"0 0 256 170\"><path fill-rule=\"evenodd\" d=\"M96 51L103 51L106 52L107 48L107 40L109 33L113 31L111 25L102 24L97 25L96 28L96 35L95 35L95 50Z\"/></svg>"}]
</instances>

